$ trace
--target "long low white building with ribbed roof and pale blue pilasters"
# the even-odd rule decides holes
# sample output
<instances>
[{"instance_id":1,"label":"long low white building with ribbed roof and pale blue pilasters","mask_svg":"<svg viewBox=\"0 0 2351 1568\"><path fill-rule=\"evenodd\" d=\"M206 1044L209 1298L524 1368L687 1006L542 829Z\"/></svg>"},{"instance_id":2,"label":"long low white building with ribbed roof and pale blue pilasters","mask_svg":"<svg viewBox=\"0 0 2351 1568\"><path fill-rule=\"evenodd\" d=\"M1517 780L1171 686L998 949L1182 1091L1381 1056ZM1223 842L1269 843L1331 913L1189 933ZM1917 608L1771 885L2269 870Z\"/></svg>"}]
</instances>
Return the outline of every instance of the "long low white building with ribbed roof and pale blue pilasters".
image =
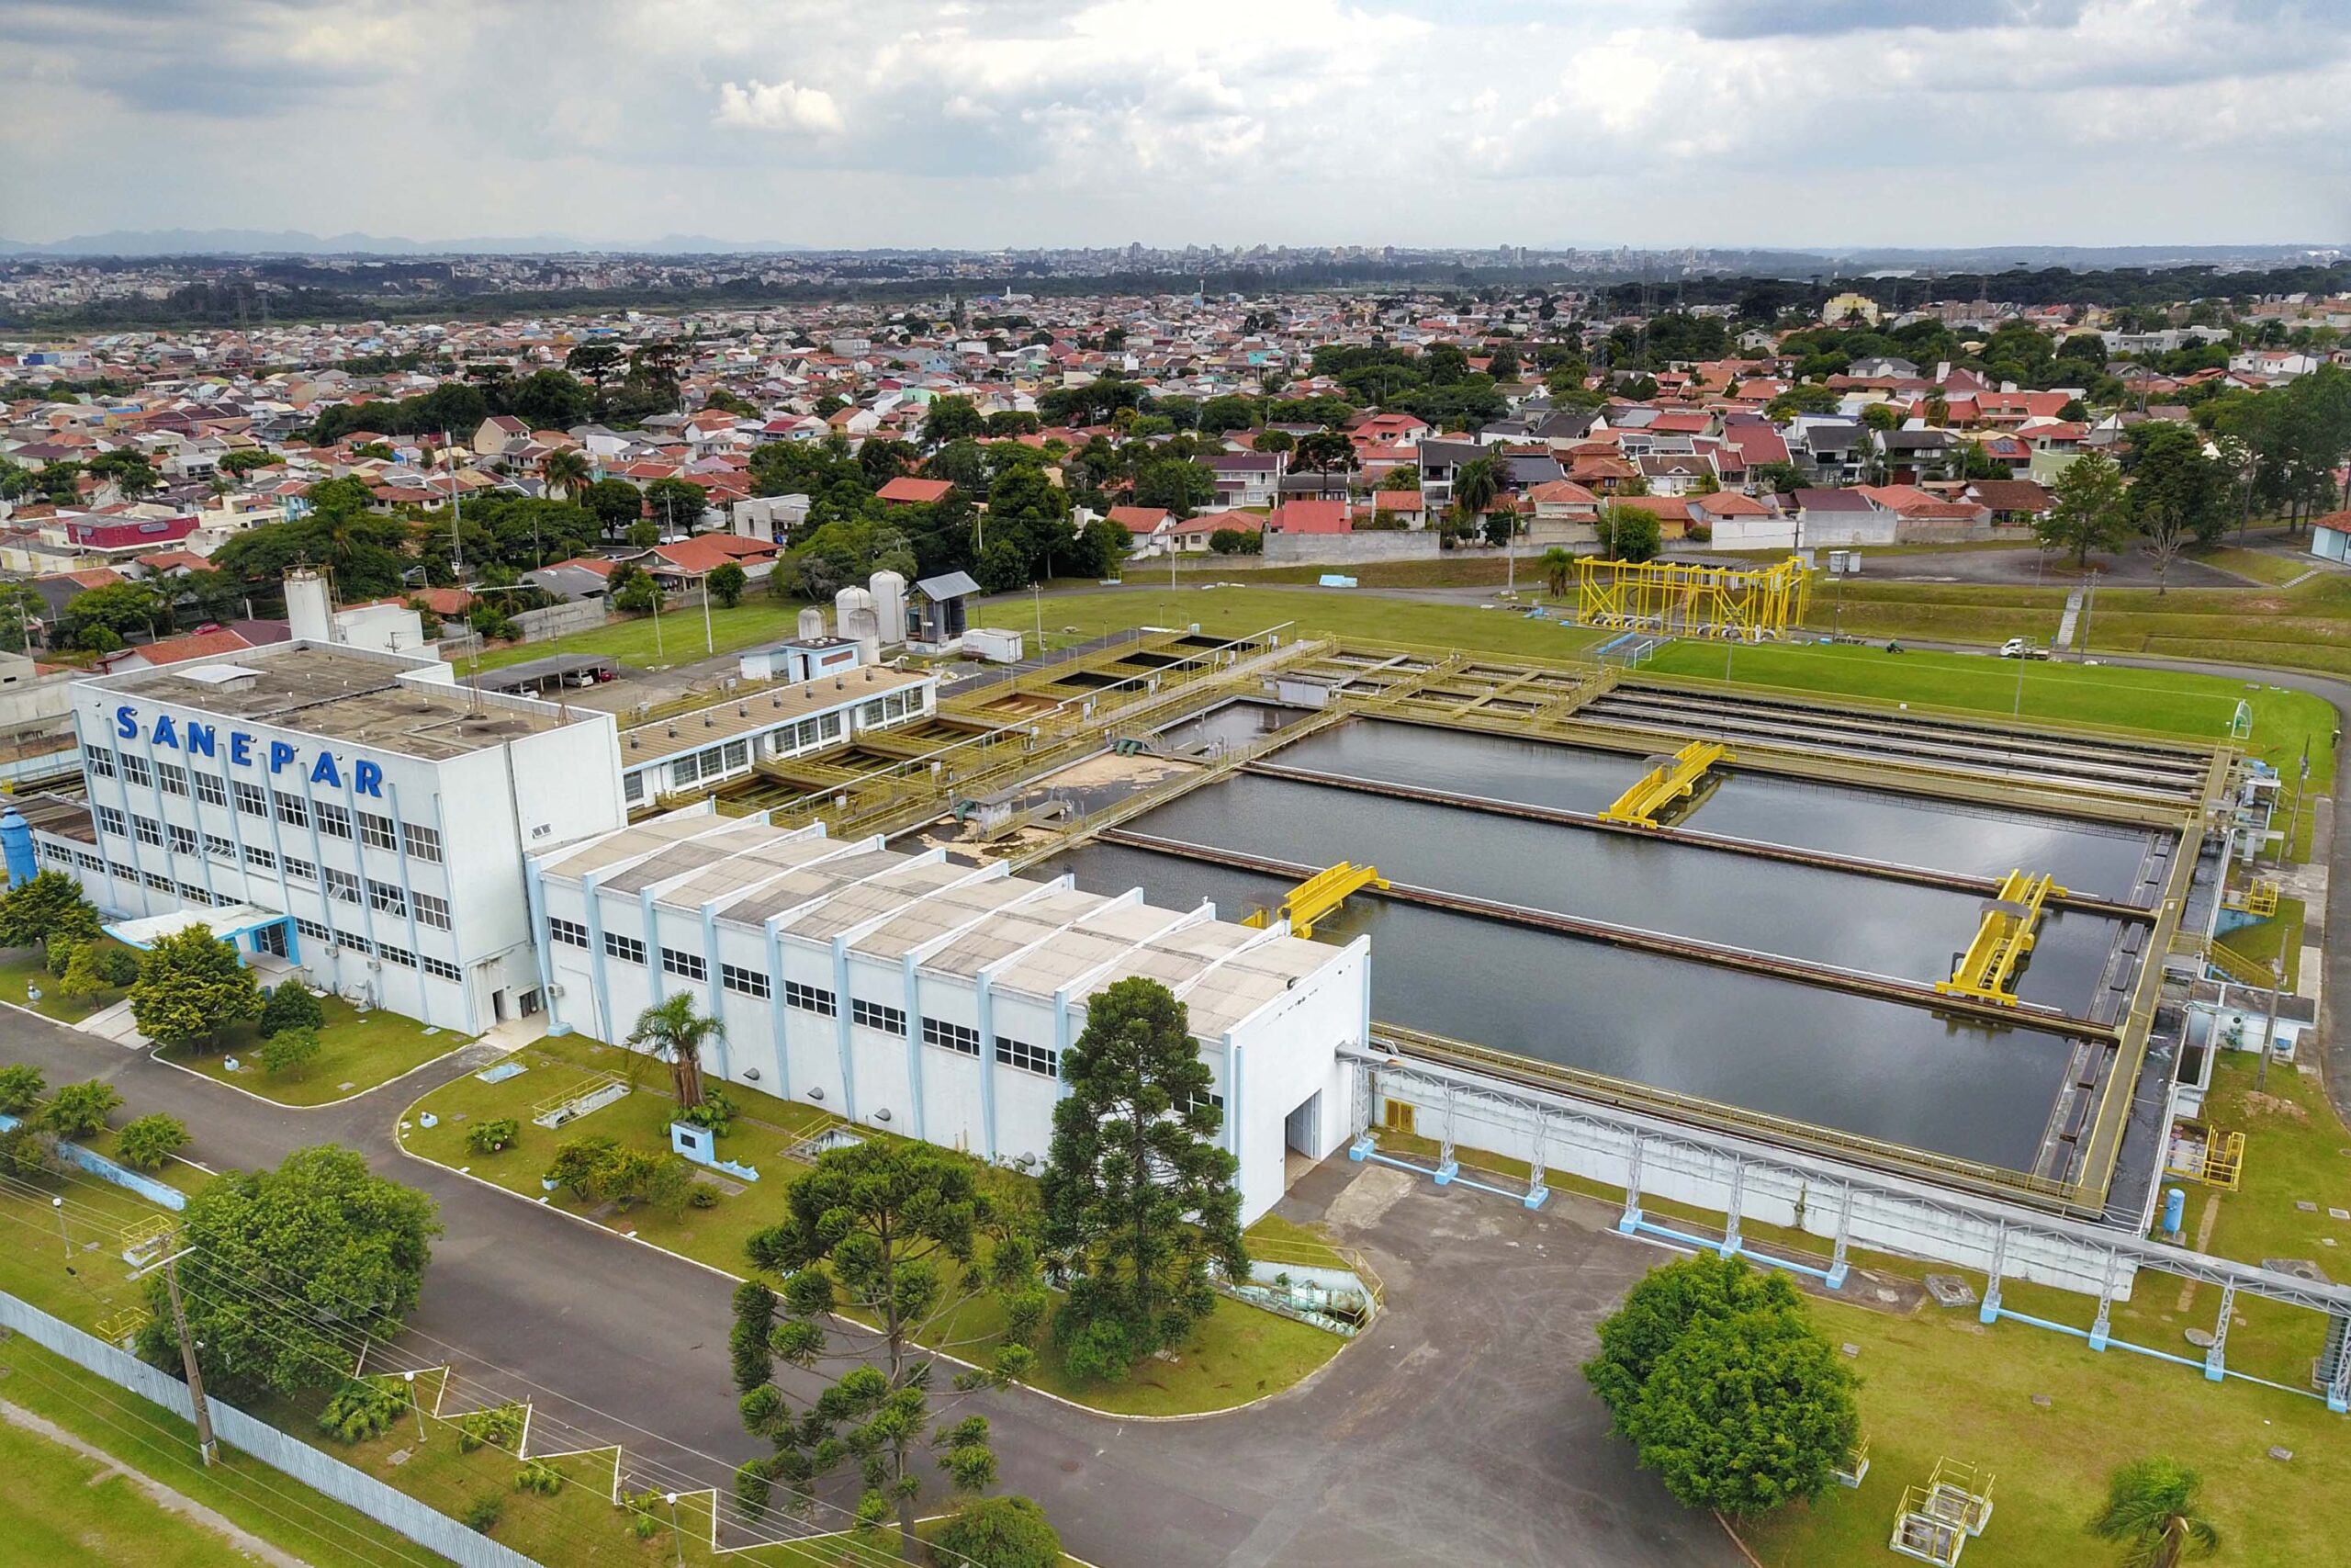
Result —
<instances>
[{"instance_id":1,"label":"long low white building with ribbed roof and pale blue pilasters","mask_svg":"<svg viewBox=\"0 0 2351 1568\"><path fill-rule=\"evenodd\" d=\"M726 1025L710 1074L849 1121L1039 1164L1089 997L1150 976L1215 1072L1244 1220L1293 1154L1352 1133L1338 1048L1368 1037L1368 938L1319 945L708 806L534 853L531 891L552 1027L623 1041L684 990Z\"/></svg>"}]
</instances>

